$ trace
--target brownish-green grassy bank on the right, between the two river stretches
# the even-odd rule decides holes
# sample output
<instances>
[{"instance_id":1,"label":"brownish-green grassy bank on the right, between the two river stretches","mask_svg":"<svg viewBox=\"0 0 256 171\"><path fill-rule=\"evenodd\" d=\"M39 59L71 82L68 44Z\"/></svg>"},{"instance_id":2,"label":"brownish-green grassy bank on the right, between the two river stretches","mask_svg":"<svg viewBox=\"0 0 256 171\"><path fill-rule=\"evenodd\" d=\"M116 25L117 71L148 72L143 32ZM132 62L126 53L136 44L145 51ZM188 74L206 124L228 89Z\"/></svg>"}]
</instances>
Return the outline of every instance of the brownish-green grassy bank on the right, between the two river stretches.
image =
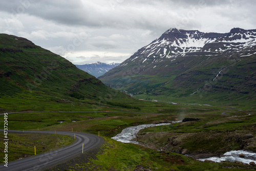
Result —
<instances>
[{"instance_id":1,"label":"brownish-green grassy bank on the right, between the two river stretches","mask_svg":"<svg viewBox=\"0 0 256 171\"><path fill-rule=\"evenodd\" d=\"M256 142L244 135L256 135L256 115L233 112L232 115L190 115L199 121L180 122L165 126L148 127L139 132L139 141L155 144L157 148L188 149L189 153L224 154L227 151L256 150ZM247 142L248 141L248 142ZM175 144L175 145L173 145Z\"/></svg>"}]
</instances>

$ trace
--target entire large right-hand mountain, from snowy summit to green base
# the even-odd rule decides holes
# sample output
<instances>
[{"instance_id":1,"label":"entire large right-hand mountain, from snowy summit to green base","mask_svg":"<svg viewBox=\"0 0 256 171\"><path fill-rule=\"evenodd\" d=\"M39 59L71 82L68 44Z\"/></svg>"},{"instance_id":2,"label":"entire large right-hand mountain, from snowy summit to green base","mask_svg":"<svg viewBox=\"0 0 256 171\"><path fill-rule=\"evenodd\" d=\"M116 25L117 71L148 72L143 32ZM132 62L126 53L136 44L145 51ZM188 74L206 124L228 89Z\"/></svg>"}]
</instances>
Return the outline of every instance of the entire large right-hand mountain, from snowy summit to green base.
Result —
<instances>
[{"instance_id":1,"label":"entire large right-hand mountain, from snowy summit to green base","mask_svg":"<svg viewBox=\"0 0 256 171\"><path fill-rule=\"evenodd\" d=\"M138 98L255 101L256 30L168 29L99 79ZM206 102L205 102L206 103Z\"/></svg>"}]
</instances>

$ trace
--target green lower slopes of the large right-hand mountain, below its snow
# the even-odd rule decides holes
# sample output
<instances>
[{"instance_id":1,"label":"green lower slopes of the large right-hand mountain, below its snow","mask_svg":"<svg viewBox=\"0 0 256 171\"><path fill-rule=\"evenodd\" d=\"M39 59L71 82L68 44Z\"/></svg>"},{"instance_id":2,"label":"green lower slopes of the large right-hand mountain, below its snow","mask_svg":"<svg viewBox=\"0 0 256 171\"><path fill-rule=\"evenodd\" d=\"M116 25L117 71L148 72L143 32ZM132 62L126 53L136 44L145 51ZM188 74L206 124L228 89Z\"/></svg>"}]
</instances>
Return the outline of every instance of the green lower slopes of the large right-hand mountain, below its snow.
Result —
<instances>
[{"instance_id":1,"label":"green lower slopes of the large right-hand mountain, below its snow","mask_svg":"<svg viewBox=\"0 0 256 171\"><path fill-rule=\"evenodd\" d=\"M148 60L143 65L118 66L100 79L142 99L218 105L255 101L255 55L229 59L222 55L210 58L201 55L154 64ZM140 72L141 69L144 71Z\"/></svg>"}]
</instances>

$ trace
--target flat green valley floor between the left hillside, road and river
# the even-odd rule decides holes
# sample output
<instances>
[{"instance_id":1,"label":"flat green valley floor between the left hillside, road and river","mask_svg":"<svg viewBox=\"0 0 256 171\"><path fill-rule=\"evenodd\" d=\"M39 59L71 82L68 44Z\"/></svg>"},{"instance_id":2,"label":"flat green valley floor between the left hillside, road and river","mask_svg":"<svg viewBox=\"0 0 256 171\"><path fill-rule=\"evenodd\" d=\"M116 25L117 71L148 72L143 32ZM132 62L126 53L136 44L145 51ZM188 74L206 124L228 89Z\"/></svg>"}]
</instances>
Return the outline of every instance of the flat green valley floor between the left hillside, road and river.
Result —
<instances>
[{"instance_id":1,"label":"flat green valley floor between the left hillside, road and river","mask_svg":"<svg viewBox=\"0 0 256 171\"><path fill-rule=\"evenodd\" d=\"M11 130L37 130L39 128L40 130L49 131L70 131L73 128L74 131L93 134L98 134L98 131L100 131L102 135L111 137L121 132L121 130L127 126L152 122L166 122L167 120L172 121L176 118L183 119L189 116L191 112L197 112L198 115L208 114L211 116L212 113L218 112L221 109L214 106L172 105L146 101L141 101L138 104L144 105L141 107L141 111L136 109L116 108L116 106L111 108L111 106L100 105L92 105L90 109L86 108L86 106L78 105L78 109L76 110L89 112L14 113L8 115L8 122ZM104 112L109 110L113 112ZM115 111L123 112L115 113ZM3 115L0 116L0 124L2 123L4 123Z\"/></svg>"}]
</instances>

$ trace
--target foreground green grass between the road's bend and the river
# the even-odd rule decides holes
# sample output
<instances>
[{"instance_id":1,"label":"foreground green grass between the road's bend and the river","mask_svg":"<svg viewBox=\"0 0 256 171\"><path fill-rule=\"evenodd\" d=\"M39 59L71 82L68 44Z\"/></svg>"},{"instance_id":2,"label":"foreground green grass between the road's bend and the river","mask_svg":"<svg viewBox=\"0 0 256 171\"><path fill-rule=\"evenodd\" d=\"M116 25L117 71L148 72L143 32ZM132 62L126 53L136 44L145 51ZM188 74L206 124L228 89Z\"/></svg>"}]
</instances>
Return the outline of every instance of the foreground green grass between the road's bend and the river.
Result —
<instances>
[{"instance_id":1,"label":"foreground green grass between the road's bend and the river","mask_svg":"<svg viewBox=\"0 0 256 171\"><path fill-rule=\"evenodd\" d=\"M136 166L152 170L229 170L229 163L205 163L171 152L159 152L136 144L120 143L105 138L103 152L86 163L90 170L133 170ZM237 165L237 164L233 164ZM80 170L78 167L75 170ZM234 168L233 170L243 170Z\"/></svg>"}]
</instances>

